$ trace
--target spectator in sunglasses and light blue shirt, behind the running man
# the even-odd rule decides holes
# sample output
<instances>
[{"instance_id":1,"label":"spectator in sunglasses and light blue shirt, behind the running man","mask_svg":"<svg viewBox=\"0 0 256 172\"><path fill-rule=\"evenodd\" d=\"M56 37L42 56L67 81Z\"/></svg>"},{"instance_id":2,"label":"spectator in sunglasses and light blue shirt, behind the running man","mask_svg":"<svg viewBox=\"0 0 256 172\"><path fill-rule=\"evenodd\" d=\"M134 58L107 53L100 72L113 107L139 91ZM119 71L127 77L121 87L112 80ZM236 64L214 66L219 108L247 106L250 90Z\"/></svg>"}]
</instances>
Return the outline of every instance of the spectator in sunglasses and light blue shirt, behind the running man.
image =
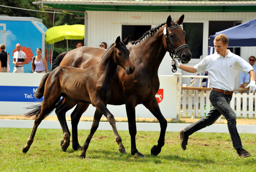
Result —
<instances>
[{"instance_id":1,"label":"spectator in sunglasses and light blue shirt, behind the running man","mask_svg":"<svg viewBox=\"0 0 256 172\"><path fill-rule=\"evenodd\" d=\"M256 72L256 66L254 65L255 60L256 58L254 56L249 57L249 64L252 65L254 72ZM249 88L246 88L246 87L250 83L250 75L244 72L241 72L239 76L239 83L240 83L239 90L238 90L239 93L243 94L244 92L247 92ZM241 103L241 106L242 106L242 103Z\"/></svg>"}]
</instances>

